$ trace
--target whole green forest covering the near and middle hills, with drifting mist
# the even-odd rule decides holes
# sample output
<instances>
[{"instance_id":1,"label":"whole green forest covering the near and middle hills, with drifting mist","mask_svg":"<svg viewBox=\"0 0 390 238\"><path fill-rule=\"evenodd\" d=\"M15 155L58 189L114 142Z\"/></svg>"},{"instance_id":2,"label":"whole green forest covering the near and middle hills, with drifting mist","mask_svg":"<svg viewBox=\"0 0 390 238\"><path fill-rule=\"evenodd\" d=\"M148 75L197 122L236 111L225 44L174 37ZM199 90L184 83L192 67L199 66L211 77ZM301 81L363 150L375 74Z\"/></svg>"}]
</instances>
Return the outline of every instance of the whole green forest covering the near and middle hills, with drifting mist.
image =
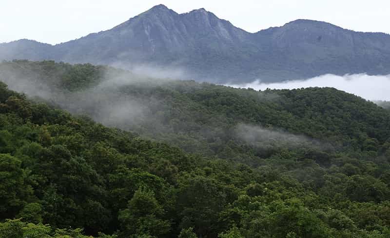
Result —
<instances>
[{"instance_id":1,"label":"whole green forest covering the near and middle hills, with drifting mist","mask_svg":"<svg viewBox=\"0 0 390 238\"><path fill-rule=\"evenodd\" d=\"M370 101L53 61L0 80L27 95L0 84L0 238L390 236L390 112Z\"/></svg>"}]
</instances>

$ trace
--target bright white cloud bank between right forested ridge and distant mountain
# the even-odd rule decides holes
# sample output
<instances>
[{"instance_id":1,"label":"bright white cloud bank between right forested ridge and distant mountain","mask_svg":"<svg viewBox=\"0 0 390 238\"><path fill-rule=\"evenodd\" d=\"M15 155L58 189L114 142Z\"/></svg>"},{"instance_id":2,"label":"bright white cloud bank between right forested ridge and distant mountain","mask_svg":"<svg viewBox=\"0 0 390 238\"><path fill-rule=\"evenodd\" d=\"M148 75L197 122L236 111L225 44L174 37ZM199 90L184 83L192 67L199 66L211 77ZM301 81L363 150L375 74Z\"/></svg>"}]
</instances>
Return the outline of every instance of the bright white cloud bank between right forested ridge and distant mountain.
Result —
<instances>
[{"instance_id":1,"label":"bright white cloud bank between right forested ridge and distant mountain","mask_svg":"<svg viewBox=\"0 0 390 238\"><path fill-rule=\"evenodd\" d=\"M370 76L356 75L322 75L312 79L293 80L275 83L262 83L256 80L252 83L227 85L237 88L253 88L255 90L295 89L308 87L333 87L368 100L390 100L390 75Z\"/></svg>"}]
</instances>

